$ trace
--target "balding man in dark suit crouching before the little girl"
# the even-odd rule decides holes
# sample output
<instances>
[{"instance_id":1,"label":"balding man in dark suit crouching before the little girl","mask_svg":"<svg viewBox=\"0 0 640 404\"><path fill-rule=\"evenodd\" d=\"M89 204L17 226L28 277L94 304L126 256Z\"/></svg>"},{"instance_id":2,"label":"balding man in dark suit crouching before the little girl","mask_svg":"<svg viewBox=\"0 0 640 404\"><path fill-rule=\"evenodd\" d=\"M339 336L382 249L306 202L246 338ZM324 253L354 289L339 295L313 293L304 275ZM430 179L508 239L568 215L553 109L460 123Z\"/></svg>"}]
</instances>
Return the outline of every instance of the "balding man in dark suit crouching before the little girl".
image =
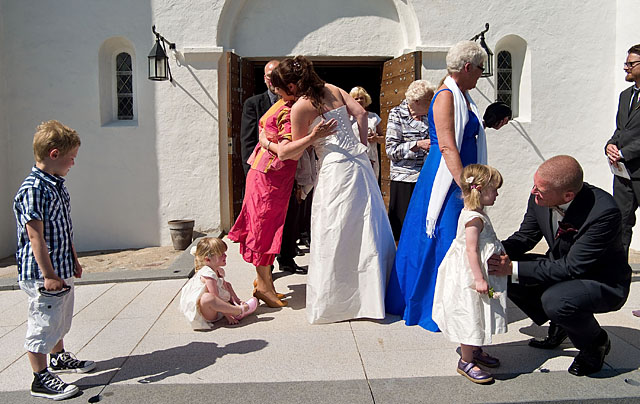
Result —
<instances>
[{"instance_id":1,"label":"balding man in dark suit crouching before the little girl","mask_svg":"<svg viewBox=\"0 0 640 404\"><path fill-rule=\"evenodd\" d=\"M551 349L568 336L580 350L569 367L576 376L599 371L611 349L594 313L618 310L627 299L631 268L622 245L621 214L607 192L583 183L570 156L555 156L533 176L520 229L503 241L506 255L489 272L511 277L509 298L549 335L529 345ZM544 237L546 255L528 254Z\"/></svg>"}]
</instances>

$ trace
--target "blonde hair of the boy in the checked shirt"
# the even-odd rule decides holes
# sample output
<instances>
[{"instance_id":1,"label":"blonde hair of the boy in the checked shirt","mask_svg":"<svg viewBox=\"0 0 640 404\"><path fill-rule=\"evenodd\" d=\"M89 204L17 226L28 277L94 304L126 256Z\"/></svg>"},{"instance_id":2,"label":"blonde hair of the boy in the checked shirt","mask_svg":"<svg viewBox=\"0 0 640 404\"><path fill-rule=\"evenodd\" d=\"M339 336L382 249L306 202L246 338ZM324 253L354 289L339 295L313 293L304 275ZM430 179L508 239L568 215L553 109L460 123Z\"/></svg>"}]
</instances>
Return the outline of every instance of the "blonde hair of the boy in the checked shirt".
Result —
<instances>
[{"instance_id":1,"label":"blonde hair of the boy in the checked shirt","mask_svg":"<svg viewBox=\"0 0 640 404\"><path fill-rule=\"evenodd\" d=\"M53 149L65 155L77 146L80 146L78 133L58 121L42 122L33 135L33 156L38 163L42 163Z\"/></svg>"}]
</instances>

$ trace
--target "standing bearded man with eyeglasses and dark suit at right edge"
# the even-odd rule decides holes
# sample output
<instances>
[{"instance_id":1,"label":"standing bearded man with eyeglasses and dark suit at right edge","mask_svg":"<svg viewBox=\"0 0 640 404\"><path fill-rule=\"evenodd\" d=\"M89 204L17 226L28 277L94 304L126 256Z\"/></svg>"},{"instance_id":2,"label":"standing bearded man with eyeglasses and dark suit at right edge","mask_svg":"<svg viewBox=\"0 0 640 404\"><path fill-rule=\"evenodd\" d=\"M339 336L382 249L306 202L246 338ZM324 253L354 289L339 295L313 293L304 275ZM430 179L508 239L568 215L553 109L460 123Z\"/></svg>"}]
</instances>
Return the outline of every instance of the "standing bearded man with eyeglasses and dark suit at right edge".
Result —
<instances>
[{"instance_id":1,"label":"standing bearded man with eyeglasses and dark suit at right edge","mask_svg":"<svg viewBox=\"0 0 640 404\"><path fill-rule=\"evenodd\" d=\"M640 44L629 49L624 71L625 80L633 85L620 93L616 130L605 153L612 165L624 163L630 177L614 175L613 179L613 198L622 212L622 243L628 254L640 201Z\"/></svg>"}]
</instances>

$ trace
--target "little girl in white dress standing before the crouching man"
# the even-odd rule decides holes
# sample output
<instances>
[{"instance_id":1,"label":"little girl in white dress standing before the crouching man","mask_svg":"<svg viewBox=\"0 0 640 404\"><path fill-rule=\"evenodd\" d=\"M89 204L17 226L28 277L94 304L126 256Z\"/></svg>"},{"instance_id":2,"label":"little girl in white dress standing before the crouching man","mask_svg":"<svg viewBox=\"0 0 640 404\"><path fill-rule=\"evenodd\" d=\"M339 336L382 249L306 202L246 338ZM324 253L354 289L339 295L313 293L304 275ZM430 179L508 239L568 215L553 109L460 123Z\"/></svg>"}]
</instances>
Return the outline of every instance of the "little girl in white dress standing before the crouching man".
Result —
<instances>
[{"instance_id":1,"label":"little girl in white dress standing before the crouching man","mask_svg":"<svg viewBox=\"0 0 640 404\"><path fill-rule=\"evenodd\" d=\"M484 207L494 204L502 175L493 167L470 164L462 170L460 184L464 209L438 268L432 318L447 338L460 343L458 373L474 383L489 383L493 376L477 365L500 366L481 346L491 344L492 334L507 332L507 278L487 271L489 257L503 248Z\"/></svg>"}]
</instances>

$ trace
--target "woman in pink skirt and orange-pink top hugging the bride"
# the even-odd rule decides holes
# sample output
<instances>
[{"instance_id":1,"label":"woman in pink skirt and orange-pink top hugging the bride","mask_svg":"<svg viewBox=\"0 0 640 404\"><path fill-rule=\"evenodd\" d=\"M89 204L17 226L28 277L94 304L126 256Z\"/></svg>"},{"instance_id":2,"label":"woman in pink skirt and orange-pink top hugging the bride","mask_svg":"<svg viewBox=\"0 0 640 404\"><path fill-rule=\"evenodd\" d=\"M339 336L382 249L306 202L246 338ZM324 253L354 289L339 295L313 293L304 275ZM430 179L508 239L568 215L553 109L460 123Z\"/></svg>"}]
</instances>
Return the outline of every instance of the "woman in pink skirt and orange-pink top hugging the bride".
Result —
<instances>
[{"instance_id":1,"label":"woman in pink skirt and orange-pink top hugging the bride","mask_svg":"<svg viewBox=\"0 0 640 404\"><path fill-rule=\"evenodd\" d=\"M335 127L335 122L323 123L309 136L293 142L290 114L297 97L290 93L276 88L281 100L260 119L260 131L266 134L267 144L258 143L247 161L251 167L242 210L228 235L230 240L240 243L243 259L255 265L253 295L269 307L287 305L273 286L271 265L280 252L297 160L317 139L332 134Z\"/></svg>"}]
</instances>

